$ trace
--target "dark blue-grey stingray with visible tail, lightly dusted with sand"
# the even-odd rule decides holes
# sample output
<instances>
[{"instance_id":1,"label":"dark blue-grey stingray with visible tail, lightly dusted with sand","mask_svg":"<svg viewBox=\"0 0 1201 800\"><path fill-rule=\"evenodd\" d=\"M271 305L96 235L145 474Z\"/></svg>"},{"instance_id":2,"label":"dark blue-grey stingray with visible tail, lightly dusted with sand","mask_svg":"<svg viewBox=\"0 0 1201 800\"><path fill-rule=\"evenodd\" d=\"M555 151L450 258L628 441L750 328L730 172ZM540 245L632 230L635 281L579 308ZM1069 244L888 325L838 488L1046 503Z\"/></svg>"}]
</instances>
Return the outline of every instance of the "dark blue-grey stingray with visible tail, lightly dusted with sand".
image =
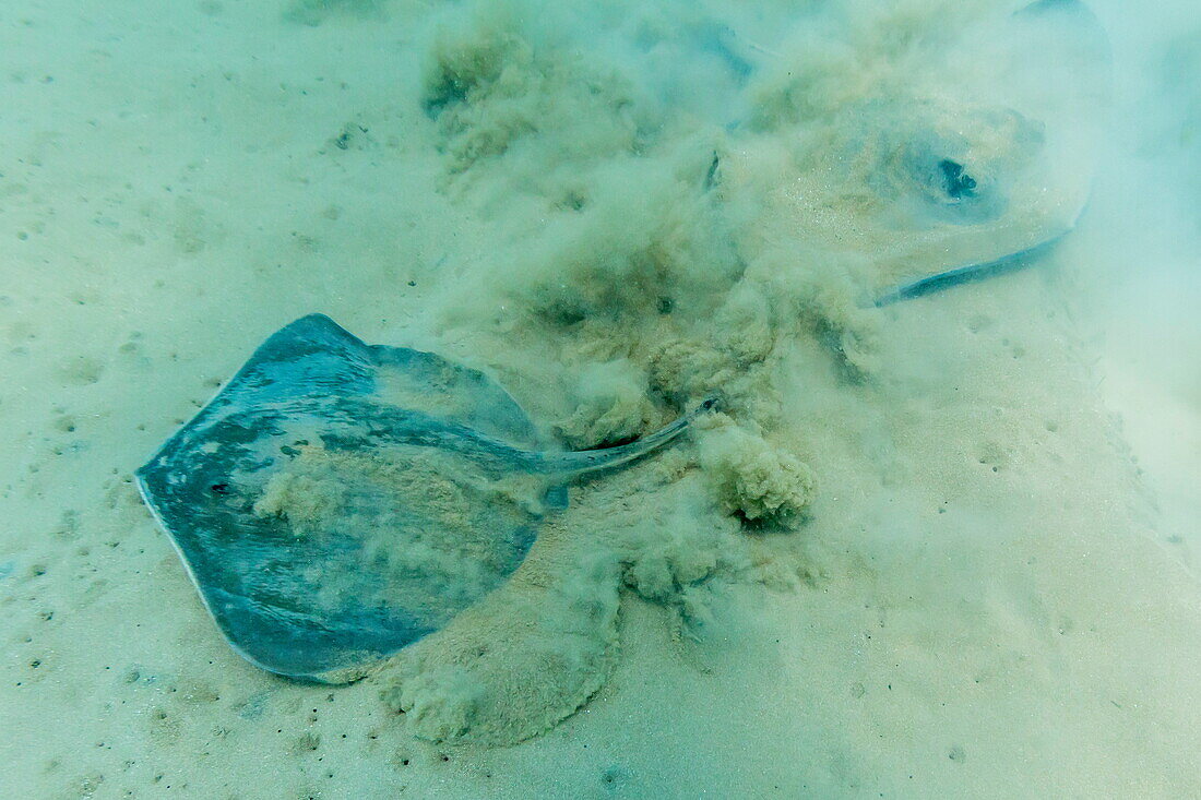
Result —
<instances>
[{"instance_id":1,"label":"dark blue-grey stingray with visible tail, lightly dusted with sand","mask_svg":"<svg viewBox=\"0 0 1201 800\"><path fill-rule=\"evenodd\" d=\"M271 335L137 482L237 652L347 682L503 584L573 478L663 447L712 406L561 452L484 372L311 315Z\"/></svg>"}]
</instances>

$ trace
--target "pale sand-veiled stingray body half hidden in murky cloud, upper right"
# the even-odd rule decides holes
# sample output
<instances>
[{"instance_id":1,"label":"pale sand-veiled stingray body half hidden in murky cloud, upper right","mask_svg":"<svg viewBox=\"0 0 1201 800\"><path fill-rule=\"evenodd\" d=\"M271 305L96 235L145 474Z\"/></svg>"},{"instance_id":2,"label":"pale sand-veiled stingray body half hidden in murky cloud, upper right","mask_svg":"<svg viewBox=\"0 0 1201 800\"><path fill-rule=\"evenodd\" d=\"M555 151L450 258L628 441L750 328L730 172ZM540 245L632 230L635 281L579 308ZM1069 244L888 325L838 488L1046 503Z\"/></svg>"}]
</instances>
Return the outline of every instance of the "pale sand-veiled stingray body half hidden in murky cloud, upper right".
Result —
<instances>
[{"instance_id":1,"label":"pale sand-veiled stingray body half hidden in murky cloud, upper right","mask_svg":"<svg viewBox=\"0 0 1201 800\"><path fill-rule=\"evenodd\" d=\"M1035 263L1088 201L1110 109L1111 59L1078 0L1038 0L964 32L936 60L945 88L882 113L896 132L877 174L894 243L877 305ZM956 97L948 103L943 92ZM883 135L888 142L892 133Z\"/></svg>"}]
</instances>

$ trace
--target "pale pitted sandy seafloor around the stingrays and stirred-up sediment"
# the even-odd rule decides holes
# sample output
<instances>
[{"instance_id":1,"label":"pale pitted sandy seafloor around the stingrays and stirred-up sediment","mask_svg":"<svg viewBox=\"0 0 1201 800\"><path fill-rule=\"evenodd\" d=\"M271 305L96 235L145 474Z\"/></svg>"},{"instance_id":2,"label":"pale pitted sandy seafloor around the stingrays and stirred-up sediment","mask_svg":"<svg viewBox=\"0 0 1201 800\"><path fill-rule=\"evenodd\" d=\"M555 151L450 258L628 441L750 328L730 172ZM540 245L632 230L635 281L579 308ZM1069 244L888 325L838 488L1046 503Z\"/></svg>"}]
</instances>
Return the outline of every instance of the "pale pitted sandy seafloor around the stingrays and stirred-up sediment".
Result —
<instances>
[{"instance_id":1,"label":"pale pitted sandy seafloor around the stingrays and stirred-up sediment","mask_svg":"<svg viewBox=\"0 0 1201 800\"><path fill-rule=\"evenodd\" d=\"M542 735L430 741L376 682L229 650L131 473L273 330L322 311L572 411L429 322L504 220L447 183L417 101L434 13L0 8L0 796L1201 796L1201 339L1152 279L1196 219L1133 199L1163 184L1129 132L1051 263L872 311L866 378L803 332L777 347L769 432L818 488L739 535L788 537L799 578L729 581L697 640L627 592L608 680ZM1160 17L1196 44L1195 13ZM1146 324L1163 297L1178 335Z\"/></svg>"}]
</instances>

